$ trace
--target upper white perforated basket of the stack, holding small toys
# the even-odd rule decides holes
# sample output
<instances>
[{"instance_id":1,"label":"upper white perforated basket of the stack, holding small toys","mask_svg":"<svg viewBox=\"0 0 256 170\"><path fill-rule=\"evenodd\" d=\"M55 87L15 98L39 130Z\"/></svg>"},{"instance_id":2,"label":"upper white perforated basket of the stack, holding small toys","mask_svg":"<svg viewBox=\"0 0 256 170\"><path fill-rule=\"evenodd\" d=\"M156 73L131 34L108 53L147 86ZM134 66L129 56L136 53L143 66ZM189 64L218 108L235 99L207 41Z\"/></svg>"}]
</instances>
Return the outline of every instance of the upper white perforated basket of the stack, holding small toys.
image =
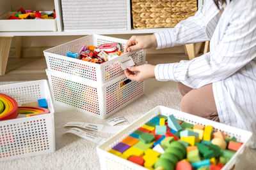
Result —
<instances>
[{"instance_id":1,"label":"upper white perforated basket of the stack, holding small toys","mask_svg":"<svg viewBox=\"0 0 256 170\"><path fill-rule=\"evenodd\" d=\"M86 62L84 60L73 59L67 57L68 51L78 52L83 45L99 46L104 43L120 43L122 50L124 50L127 40L119 38L111 38L108 36L90 35L83 38L70 41L63 45L59 45L44 51L47 68L52 71L60 71L70 75L79 76L84 80L92 80L97 83L106 83L113 78L120 76L124 71L120 66L120 61L131 56L134 62L138 65L143 64L146 59L145 50L136 50L134 52L125 53L116 57L116 59L109 60L103 64L95 64Z\"/></svg>"}]
</instances>

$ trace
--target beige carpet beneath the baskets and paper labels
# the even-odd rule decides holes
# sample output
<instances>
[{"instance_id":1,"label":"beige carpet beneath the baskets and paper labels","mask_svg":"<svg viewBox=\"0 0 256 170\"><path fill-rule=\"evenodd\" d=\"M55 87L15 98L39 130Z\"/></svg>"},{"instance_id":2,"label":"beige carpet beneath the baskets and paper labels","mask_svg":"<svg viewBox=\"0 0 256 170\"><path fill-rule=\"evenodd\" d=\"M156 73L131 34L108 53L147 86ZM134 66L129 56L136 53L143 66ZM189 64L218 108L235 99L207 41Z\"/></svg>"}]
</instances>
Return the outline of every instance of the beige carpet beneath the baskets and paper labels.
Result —
<instances>
[{"instance_id":1,"label":"beige carpet beneath the baskets and paper labels","mask_svg":"<svg viewBox=\"0 0 256 170\"><path fill-rule=\"evenodd\" d=\"M0 82L3 84L5 82ZM67 122L90 122L105 124L114 117L124 116L128 121L119 125L131 124L138 117L151 110L157 105L167 106L179 110L181 96L177 89L177 83L173 81L146 81L145 94L140 99L129 104L106 120L90 117L84 113L54 105L56 152L47 155L38 155L25 159L9 160L0 162L0 169L100 169L99 158L96 152L96 144L73 134L63 134L67 131L63 127ZM86 131L86 130L84 130ZM92 132L103 138L109 138L111 134ZM249 150L246 153L244 169L256 169L256 151Z\"/></svg>"}]
</instances>

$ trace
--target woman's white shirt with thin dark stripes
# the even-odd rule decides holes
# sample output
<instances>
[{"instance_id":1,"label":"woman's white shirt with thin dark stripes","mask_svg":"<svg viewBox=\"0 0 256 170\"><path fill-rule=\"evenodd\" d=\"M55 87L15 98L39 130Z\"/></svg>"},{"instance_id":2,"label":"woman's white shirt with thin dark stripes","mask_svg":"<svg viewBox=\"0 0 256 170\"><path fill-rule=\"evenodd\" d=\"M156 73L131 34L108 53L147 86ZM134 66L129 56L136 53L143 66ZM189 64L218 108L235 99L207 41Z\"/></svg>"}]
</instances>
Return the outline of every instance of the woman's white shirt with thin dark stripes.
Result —
<instances>
[{"instance_id":1,"label":"woman's white shirt with thin dark stripes","mask_svg":"<svg viewBox=\"0 0 256 170\"><path fill-rule=\"evenodd\" d=\"M212 83L220 122L252 131L256 148L256 1L228 0L220 14L207 0L195 16L155 33L157 49L211 40L200 57L157 64L156 79L193 89Z\"/></svg>"}]
</instances>

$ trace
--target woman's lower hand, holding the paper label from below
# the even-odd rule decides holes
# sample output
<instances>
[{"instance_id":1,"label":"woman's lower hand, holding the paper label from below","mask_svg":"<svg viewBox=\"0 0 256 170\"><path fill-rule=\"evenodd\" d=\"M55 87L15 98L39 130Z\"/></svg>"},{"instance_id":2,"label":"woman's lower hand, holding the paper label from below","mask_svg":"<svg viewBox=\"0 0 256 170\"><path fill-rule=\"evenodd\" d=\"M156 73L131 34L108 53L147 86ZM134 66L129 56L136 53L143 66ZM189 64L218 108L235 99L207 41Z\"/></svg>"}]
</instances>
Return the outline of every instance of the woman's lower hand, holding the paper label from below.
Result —
<instances>
[{"instance_id":1,"label":"woman's lower hand, holding the paper label from below","mask_svg":"<svg viewBox=\"0 0 256 170\"><path fill-rule=\"evenodd\" d=\"M135 74L134 71L137 71L138 73ZM141 82L155 76L155 66L151 64L143 64L141 66L127 67L127 69L124 70L124 73L130 80Z\"/></svg>"}]
</instances>

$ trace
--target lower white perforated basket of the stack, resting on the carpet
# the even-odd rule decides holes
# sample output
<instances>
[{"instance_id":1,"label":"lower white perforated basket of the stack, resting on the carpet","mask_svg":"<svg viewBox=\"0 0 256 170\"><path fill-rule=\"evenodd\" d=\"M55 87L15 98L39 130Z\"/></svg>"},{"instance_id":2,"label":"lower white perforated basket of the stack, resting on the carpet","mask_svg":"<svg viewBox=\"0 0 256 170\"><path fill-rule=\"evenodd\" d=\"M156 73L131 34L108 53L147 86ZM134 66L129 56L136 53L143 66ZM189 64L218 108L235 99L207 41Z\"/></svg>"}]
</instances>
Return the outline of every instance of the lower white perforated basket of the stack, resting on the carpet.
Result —
<instances>
[{"instance_id":1,"label":"lower white perforated basket of the stack, resting on the carpet","mask_svg":"<svg viewBox=\"0 0 256 170\"><path fill-rule=\"evenodd\" d=\"M144 82L129 81L125 74L100 84L65 73L46 73L54 102L93 117L107 118L144 93Z\"/></svg>"}]
</instances>

